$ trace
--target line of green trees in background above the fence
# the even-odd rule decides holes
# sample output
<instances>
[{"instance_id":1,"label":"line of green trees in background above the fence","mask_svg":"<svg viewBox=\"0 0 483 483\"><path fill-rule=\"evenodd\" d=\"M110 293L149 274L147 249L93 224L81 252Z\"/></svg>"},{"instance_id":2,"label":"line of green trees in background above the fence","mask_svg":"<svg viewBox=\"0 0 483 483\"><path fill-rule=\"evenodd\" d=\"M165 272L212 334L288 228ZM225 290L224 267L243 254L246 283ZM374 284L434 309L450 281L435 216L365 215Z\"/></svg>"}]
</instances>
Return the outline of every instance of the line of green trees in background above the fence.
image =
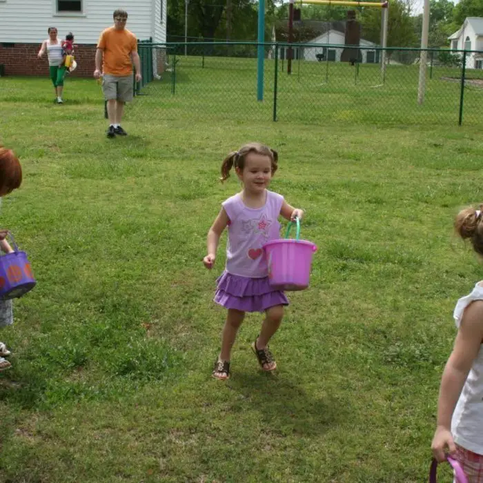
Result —
<instances>
[{"instance_id":1,"label":"line of green trees in background above the fence","mask_svg":"<svg viewBox=\"0 0 483 483\"><path fill-rule=\"evenodd\" d=\"M186 1L186 0L185 0ZM185 1L168 0L168 41L184 41ZM419 47L422 14L415 14L411 0L389 0L388 46ZM257 40L258 1L188 0L188 41ZM304 5L302 20L336 21L346 19L348 8ZM380 42L381 9L354 8L364 39ZM483 0L430 0L428 46L449 46L448 37L458 30L466 17L483 17ZM288 19L288 3L266 0L265 38L272 38L273 27Z\"/></svg>"}]
</instances>

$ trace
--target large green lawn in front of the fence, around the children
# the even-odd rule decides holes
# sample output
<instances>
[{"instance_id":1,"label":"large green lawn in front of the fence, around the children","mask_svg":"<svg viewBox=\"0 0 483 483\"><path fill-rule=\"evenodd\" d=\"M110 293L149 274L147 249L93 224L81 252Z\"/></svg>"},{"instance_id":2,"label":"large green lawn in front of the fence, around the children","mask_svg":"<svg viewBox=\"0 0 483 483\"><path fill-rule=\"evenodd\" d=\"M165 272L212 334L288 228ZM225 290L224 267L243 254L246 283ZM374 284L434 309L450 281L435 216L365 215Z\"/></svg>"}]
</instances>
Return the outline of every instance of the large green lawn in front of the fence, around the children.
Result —
<instances>
[{"instance_id":1,"label":"large green lawn in front of the fence, around the children","mask_svg":"<svg viewBox=\"0 0 483 483\"><path fill-rule=\"evenodd\" d=\"M156 108L137 98L124 139L106 139L94 80L68 79L55 106L48 79L0 79L0 140L24 170L1 227L38 280L0 333L14 351L0 482L426 480L453 306L482 272L452 231L483 201L480 127L373 124L380 106L357 123L335 122L336 108L273 123L250 115L239 77L233 116L215 92L203 115L181 79L173 98L148 86ZM302 237L319 251L310 288L288 294L277 374L250 352L250 315L220 383L225 239L213 271L201 259L239 189L219 183L221 160L252 140L279 151L272 189L306 210Z\"/></svg>"}]
</instances>

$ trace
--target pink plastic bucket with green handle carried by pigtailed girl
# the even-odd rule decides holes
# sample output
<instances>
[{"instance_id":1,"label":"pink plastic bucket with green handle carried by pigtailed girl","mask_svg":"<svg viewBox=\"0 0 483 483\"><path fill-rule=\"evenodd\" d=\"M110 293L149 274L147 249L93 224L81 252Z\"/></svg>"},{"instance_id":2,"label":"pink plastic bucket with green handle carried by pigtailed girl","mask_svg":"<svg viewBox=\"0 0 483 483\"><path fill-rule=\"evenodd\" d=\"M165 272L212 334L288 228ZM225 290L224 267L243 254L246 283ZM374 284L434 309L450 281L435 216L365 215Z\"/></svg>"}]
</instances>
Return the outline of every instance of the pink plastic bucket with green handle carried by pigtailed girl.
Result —
<instances>
[{"instance_id":1,"label":"pink plastic bucket with green handle carried by pigtailed girl","mask_svg":"<svg viewBox=\"0 0 483 483\"><path fill-rule=\"evenodd\" d=\"M317 246L306 240L299 240L300 225L297 219L297 237L288 239L288 224L285 239L273 240L264 245L268 262L270 285L280 290L304 290L311 277L312 256Z\"/></svg>"}]
</instances>

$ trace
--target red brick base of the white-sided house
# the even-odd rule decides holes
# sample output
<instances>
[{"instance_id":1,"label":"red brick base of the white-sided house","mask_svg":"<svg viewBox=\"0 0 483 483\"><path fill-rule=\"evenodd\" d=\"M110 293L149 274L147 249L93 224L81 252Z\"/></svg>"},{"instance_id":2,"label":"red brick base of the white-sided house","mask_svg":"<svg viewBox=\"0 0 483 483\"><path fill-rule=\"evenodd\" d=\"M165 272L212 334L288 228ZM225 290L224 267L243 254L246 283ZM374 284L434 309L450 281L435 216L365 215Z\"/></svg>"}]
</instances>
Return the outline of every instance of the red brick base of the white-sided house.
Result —
<instances>
[{"instance_id":1,"label":"red brick base of the white-sided house","mask_svg":"<svg viewBox=\"0 0 483 483\"><path fill-rule=\"evenodd\" d=\"M48 75L47 53L39 59L40 43L0 43L0 65L5 75ZM95 69L95 45L75 46L77 69L71 75L92 77Z\"/></svg>"}]
</instances>

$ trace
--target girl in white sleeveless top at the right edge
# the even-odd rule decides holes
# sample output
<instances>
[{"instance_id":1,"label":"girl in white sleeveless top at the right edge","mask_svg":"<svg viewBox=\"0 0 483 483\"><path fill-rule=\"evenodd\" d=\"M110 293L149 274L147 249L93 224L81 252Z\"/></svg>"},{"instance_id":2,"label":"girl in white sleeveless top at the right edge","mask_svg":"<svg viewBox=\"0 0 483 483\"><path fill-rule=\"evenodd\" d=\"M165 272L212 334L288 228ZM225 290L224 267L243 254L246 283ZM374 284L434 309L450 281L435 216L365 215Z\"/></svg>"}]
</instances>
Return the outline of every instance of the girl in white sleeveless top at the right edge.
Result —
<instances>
[{"instance_id":1,"label":"girl in white sleeveless top at the right edge","mask_svg":"<svg viewBox=\"0 0 483 483\"><path fill-rule=\"evenodd\" d=\"M455 219L457 234L483 256L483 205L465 208ZM454 457L469 483L483 482L483 282L458 300L453 314L458 332L444 367L437 402L433 455Z\"/></svg>"}]
</instances>

